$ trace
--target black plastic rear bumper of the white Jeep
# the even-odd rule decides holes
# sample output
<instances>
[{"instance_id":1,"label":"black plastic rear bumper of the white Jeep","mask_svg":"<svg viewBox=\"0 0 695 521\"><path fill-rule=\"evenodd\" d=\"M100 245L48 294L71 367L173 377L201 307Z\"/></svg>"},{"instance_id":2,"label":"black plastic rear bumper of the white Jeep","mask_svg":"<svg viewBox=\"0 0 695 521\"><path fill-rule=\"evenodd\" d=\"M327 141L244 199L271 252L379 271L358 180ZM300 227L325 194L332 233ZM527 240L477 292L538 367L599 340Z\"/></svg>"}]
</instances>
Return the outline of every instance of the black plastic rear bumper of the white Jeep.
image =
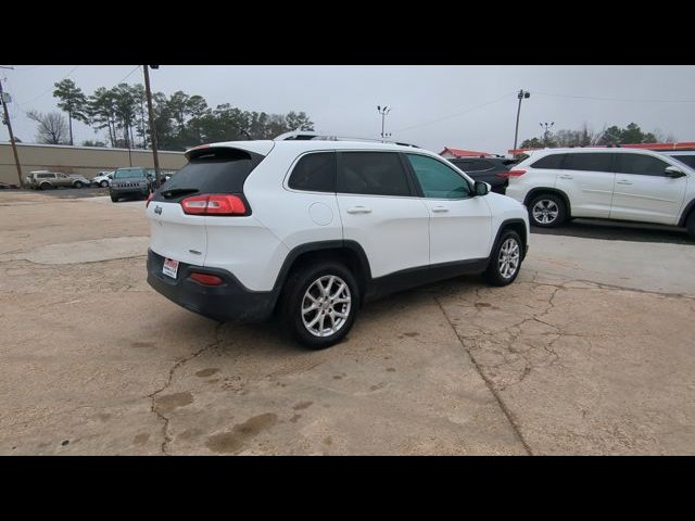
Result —
<instances>
[{"instance_id":1,"label":"black plastic rear bumper of the white Jeep","mask_svg":"<svg viewBox=\"0 0 695 521\"><path fill-rule=\"evenodd\" d=\"M164 257L148 250L148 283L169 301L214 320L262 321L270 317L277 295L251 291L229 271L179 263L176 280L162 274ZM202 285L189 279L192 271L220 277L222 285Z\"/></svg>"}]
</instances>

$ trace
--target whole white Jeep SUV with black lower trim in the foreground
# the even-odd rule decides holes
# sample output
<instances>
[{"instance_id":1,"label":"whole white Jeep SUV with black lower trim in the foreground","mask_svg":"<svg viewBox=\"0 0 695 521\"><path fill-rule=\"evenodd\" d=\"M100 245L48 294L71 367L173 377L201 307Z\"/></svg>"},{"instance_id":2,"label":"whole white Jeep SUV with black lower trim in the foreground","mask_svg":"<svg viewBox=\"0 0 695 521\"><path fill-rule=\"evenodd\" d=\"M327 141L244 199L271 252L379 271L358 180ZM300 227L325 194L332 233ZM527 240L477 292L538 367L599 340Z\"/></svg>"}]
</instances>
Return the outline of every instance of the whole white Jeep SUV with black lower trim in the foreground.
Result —
<instances>
[{"instance_id":1,"label":"whole white Jeep SUV with black lower trim in the foreground","mask_svg":"<svg viewBox=\"0 0 695 521\"><path fill-rule=\"evenodd\" d=\"M238 141L186 155L148 201L148 282L217 320L278 312L313 348L393 291L471 272L508 284L528 249L521 204L418 148Z\"/></svg>"}]
</instances>

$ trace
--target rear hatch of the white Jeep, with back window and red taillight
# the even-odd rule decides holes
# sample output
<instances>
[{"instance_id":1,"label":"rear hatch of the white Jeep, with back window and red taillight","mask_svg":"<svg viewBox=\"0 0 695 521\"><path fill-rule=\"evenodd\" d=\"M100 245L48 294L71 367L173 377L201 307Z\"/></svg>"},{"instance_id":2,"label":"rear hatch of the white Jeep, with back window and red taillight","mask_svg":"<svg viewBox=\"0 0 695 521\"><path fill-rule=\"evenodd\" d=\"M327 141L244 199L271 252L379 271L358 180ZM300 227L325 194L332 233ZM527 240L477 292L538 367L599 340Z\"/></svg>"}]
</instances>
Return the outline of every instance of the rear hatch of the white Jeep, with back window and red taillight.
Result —
<instances>
[{"instance_id":1,"label":"rear hatch of the white Jeep, with back window and red taillight","mask_svg":"<svg viewBox=\"0 0 695 521\"><path fill-rule=\"evenodd\" d=\"M273 149L269 142L267 151L260 150L265 154L258 153L257 144L253 143L255 151L244 150L247 147L239 143L239 147L204 145L187 152L189 163L148 201L150 249L154 253L205 265L206 220L238 219L252 213L243 183Z\"/></svg>"}]
</instances>

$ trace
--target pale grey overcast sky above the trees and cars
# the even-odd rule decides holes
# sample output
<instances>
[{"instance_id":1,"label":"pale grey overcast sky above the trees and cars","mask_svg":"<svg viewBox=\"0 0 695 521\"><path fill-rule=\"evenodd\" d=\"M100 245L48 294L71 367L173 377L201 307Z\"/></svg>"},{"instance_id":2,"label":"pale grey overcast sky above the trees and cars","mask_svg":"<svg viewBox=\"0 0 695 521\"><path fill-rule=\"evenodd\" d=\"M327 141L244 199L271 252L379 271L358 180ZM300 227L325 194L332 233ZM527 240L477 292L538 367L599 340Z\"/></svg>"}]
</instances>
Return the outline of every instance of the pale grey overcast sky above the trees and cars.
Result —
<instances>
[{"instance_id":1,"label":"pale grey overcast sky above the trees and cars","mask_svg":"<svg viewBox=\"0 0 695 521\"><path fill-rule=\"evenodd\" d=\"M135 64L15 67L0 74L13 98L14 132L27 142L35 139L36 124L25 112L56 110L55 81L67 76L87 94L124 79L143 82ZM162 65L151 72L151 82L167 96L177 90L200 94L212 107L304 111L316 130L342 136L377 138L377 105L389 105L392 139L435 152L454 147L505 153L514 144L519 89L531 92L521 107L519 142L540 137L545 122L554 122L554 130L577 129L584 122L594 130L635 122L645 131L695 141L695 66ZM8 139L2 126L0 140ZM75 144L86 139L106 141L103 131L96 135L76 124Z\"/></svg>"}]
</instances>

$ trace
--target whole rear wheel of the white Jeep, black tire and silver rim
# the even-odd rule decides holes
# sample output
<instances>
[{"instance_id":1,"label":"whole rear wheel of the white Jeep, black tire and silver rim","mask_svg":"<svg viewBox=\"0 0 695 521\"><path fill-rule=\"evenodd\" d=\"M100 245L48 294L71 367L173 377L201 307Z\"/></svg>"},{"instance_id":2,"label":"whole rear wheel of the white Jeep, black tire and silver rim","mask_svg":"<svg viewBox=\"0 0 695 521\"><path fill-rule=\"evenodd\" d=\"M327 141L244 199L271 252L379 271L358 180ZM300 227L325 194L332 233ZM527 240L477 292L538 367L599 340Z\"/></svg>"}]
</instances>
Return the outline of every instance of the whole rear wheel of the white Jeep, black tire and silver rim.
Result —
<instances>
[{"instance_id":1,"label":"whole rear wheel of the white Jeep, black tire and silver rim","mask_svg":"<svg viewBox=\"0 0 695 521\"><path fill-rule=\"evenodd\" d=\"M344 265L324 260L300 268L288 279L283 320L292 335L311 350L337 344L352 328L359 289Z\"/></svg>"}]
</instances>

